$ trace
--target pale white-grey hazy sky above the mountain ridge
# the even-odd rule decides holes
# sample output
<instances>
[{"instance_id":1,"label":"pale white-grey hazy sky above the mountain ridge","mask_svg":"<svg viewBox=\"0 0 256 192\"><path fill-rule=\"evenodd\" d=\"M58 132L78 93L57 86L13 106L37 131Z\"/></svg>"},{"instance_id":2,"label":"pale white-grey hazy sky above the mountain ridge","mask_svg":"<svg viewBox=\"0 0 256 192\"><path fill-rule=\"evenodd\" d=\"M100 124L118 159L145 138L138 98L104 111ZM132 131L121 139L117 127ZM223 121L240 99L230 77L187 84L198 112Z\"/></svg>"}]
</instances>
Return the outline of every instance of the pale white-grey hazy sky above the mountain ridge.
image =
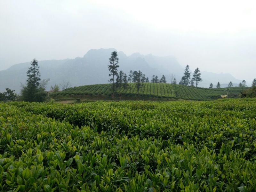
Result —
<instances>
[{"instance_id":1,"label":"pale white-grey hazy sky above the mountain ridge","mask_svg":"<svg viewBox=\"0 0 256 192\"><path fill-rule=\"evenodd\" d=\"M0 0L0 70L113 47L251 82L255 19L256 1Z\"/></svg>"}]
</instances>

